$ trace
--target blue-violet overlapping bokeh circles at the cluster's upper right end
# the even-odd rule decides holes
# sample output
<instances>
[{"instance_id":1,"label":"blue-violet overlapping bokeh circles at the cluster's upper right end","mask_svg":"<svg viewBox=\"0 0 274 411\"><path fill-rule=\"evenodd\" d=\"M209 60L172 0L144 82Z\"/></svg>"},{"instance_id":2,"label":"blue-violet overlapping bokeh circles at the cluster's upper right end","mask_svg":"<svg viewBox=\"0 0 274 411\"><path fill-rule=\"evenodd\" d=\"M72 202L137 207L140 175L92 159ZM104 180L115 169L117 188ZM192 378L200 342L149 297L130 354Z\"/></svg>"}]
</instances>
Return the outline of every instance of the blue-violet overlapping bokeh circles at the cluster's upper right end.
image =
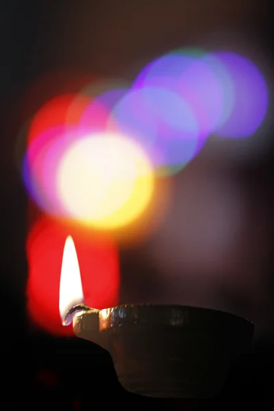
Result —
<instances>
[{"instance_id":1,"label":"blue-violet overlapping bokeh circles at the cluster's upper right end","mask_svg":"<svg viewBox=\"0 0 274 411\"><path fill-rule=\"evenodd\" d=\"M165 87L188 102L199 122L197 151L206 138L252 136L268 106L266 81L256 64L236 53L179 49L147 64L134 88Z\"/></svg>"}]
</instances>

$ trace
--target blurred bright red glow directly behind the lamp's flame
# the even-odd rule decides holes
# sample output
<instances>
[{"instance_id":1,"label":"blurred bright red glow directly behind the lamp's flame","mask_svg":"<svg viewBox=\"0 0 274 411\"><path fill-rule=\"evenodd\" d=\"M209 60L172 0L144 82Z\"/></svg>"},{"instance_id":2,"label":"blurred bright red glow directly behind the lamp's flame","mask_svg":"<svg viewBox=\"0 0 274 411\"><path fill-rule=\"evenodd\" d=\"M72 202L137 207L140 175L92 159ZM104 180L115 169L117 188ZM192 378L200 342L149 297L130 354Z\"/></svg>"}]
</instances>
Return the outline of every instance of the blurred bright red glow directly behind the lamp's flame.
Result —
<instances>
[{"instance_id":1,"label":"blurred bright red glow directly behind the lamp's flame","mask_svg":"<svg viewBox=\"0 0 274 411\"><path fill-rule=\"evenodd\" d=\"M112 239L43 217L27 238L27 306L30 319L38 327L60 336L73 335L71 325L62 326L59 313L62 256L70 234L77 249L85 302L101 309L119 301L119 257Z\"/></svg>"}]
</instances>

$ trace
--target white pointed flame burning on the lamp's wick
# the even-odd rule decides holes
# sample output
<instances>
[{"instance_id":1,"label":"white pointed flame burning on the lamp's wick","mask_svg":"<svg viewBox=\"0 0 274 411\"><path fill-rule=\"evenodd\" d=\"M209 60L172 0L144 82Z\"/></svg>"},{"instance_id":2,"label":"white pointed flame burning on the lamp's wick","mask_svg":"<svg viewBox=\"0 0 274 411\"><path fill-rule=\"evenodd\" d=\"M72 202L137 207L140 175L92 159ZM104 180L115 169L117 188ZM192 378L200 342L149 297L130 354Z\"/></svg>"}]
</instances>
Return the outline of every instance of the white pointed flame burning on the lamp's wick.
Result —
<instances>
[{"instance_id":1,"label":"white pointed flame burning on the lamp's wick","mask_svg":"<svg viewBox=\"0 0 274 411\"><path fill-rule=\"evenodd\" d=\"M81 273L73 238L68 236L64 244L60 277L59 312L62 321L71 307L81 303L84 303Z\"/></svg>"}]
</instances>

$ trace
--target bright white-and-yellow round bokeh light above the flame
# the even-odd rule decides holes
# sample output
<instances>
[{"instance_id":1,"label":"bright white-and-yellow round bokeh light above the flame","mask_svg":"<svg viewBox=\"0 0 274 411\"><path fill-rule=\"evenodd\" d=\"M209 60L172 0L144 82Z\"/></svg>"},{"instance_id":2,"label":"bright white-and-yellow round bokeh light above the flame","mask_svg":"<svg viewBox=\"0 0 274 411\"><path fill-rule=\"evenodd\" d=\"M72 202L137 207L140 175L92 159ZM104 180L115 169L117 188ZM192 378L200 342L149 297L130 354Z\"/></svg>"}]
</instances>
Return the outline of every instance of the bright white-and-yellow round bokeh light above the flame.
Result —
<instances>
[{"instance_id":1,"label":"bright white-and-yellow round bokeh light above the flame","mask_svg":"<svg viewBox=\"0 0 274 411\"><path fill-rule=\"evenodd\" d=\"M101 229L128 225L153 195L145 152L119 134L94 134L75 142L60 160L57 178L69 216Z\"/></svg>"}]
</instances>

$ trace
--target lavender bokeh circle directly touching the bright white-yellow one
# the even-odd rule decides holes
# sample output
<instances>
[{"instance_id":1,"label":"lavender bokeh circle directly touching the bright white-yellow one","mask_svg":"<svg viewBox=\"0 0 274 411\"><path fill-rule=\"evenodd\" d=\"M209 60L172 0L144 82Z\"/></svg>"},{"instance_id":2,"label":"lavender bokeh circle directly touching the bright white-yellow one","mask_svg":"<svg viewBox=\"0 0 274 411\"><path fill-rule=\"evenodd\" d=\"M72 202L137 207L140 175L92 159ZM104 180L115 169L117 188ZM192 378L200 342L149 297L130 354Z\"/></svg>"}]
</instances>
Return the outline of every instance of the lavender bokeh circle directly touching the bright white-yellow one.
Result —
<instances>
[{"instance_id":1,"label":"lavender bokeh circle directly touching the bright white-yellow one","mask_svg":"<svg viewBox=\"0 0 274 411\"><path fill-rule=\"evenodd\" d=\"M199 123L190 106L175 90L133 88L112 110L116 125L145 151L156 172L182 169L195 154Z\"/></svg>"}]
</instances>

